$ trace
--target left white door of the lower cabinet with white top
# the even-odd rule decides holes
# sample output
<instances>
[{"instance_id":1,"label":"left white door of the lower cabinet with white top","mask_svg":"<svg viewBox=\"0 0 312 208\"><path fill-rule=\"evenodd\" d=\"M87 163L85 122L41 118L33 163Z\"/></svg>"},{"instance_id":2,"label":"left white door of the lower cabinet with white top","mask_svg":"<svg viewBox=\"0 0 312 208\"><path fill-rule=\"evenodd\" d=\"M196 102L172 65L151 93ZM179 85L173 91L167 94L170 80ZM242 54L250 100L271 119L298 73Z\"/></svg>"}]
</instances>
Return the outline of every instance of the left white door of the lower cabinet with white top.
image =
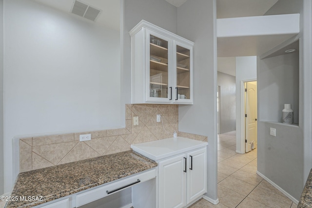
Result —
<instances>
[{"instance_id":1,"label":"left white door of the lower cabinet with white top","mask_svg":"<svg viewBox=\"0 0 312 208\"><path fill-rule=\"evenodd\" d=\"M160 161L159 208L182 208L186 205L186 155Z\"/></svg>"}]
</instances>

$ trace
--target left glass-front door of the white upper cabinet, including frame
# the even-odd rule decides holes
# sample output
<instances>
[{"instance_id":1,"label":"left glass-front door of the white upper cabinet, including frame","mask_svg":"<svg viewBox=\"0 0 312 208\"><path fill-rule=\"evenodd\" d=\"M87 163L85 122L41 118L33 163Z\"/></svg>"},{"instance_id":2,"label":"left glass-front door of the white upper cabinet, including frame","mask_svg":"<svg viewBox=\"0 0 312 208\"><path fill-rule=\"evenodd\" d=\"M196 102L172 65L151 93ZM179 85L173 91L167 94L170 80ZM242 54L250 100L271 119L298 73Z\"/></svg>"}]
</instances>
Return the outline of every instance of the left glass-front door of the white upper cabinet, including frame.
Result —
<instances>
[{"instance_id":1,"label":"left glass-front door of the white upper cabinet, including frame","mask_svg":"<svg viewBox=\"0 0 312 208\"><path fill-rule=\"evenodd\" d=\"M172 100L172 40L146 30L146 101Z\"/></svg>"}]
</instances>

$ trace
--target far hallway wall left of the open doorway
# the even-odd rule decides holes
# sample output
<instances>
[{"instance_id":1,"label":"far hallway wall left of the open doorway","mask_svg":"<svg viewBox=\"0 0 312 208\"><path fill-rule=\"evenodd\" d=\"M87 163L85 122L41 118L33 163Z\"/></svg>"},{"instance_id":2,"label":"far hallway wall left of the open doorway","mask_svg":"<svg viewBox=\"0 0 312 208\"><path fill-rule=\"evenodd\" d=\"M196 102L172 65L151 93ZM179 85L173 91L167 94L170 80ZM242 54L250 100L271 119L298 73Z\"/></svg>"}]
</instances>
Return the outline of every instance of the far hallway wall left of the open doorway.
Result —
<instances>
[{"instance_id":1,"label":"far hallway wall left of the open doorway","mask_svg":"<svg viewBox=\"0 0 312 208\"><path fill-rule=\"evenodd\" d=\"M236 87L235 76L218 72L217 85L220 86L220 133L236 129Z\"/></svg>"}]
</instances>

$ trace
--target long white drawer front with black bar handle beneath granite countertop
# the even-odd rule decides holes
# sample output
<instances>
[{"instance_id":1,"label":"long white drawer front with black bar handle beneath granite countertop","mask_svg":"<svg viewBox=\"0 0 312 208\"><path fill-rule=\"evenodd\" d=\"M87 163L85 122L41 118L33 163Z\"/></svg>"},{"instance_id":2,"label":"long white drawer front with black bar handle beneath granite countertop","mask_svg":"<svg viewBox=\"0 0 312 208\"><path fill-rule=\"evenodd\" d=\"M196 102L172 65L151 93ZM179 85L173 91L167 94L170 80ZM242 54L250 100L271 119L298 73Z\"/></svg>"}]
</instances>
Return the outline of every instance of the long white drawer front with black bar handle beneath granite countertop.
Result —
<instances>
[{"instance_id":1,"label":"long white drawer front with black bar handle beneath granite countertop","mask_svg":"<svg viewBox=\"0 0 312 208\"><path fill-rule=\"evenodd\" d=\"M76 207L80 207L82 205L96 201L109 194L113 194L117 191L132 187L135 184L142 183L155 177L156 177L156 168L119 179L116 182L112 182L107 185L102 185L101 187L98 188L86 190L83 193L77 194Z\"/></svg>"}]
</instances>

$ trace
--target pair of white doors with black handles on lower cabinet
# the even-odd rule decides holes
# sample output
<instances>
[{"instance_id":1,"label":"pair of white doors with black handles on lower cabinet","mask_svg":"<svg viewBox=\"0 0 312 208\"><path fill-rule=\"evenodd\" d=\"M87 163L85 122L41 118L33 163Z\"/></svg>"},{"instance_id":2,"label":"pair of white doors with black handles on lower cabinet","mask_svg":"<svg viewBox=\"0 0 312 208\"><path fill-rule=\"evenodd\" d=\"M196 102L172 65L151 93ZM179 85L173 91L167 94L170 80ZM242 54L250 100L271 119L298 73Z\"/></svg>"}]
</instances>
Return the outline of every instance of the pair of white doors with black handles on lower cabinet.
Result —
<instances>
[{"instance_id":1,"label":"pair of white doors with black handles on lower cabinet","mask_svg":"<svg viewBox=\"0 0 312 208\"><path fill-rule=\"evenodd\" d=\"M205 147L158 162L159 208L183 208L207 192L206 154Z\"/></svg>"}]
</instances>

